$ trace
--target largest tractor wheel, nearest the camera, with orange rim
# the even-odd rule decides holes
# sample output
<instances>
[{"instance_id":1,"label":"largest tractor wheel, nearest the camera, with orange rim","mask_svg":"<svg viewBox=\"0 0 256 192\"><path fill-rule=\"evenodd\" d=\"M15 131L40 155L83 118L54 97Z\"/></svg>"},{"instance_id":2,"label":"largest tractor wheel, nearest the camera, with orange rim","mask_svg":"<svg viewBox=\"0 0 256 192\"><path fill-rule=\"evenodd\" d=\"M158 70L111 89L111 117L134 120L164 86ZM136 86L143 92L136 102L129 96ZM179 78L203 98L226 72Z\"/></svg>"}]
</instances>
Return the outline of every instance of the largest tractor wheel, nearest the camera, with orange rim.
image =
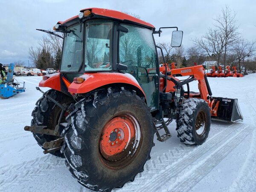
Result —
<instances>
[{"instance_id":1,"label":"largest tractor wheel, nearest the camera, with orange rim","mask_svg":"<svg viewBox=\"0 0 256 192\"><path fill-rule=\"evenodd\" d=\"M67 116L62 152L70 172L93 191L111 191L143 172L154 124L145 100L122 89L82 99Z\"/></svg>"}]
</instances>

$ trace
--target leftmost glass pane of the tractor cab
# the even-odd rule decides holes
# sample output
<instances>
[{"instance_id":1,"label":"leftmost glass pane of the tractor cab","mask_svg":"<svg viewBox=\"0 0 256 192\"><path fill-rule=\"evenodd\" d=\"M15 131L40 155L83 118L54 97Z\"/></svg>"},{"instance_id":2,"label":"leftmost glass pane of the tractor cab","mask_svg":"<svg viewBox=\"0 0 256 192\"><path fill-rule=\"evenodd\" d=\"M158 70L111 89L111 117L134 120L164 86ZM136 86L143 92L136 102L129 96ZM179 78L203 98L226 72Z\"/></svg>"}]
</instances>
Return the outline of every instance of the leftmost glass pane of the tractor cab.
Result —
<instances>
[{"instance_id":1,"label":"leftmost glass pane of the tractor cab","mask_svg":"<svg viewBox=\"0 0 256 192\"><path fill-rule=\"evenodd\" d=\"M80 24L67 28L64 38L63 54L61 59L61 71L78 72L82 61L82 32Z\"/></svg>"}]
</instances>

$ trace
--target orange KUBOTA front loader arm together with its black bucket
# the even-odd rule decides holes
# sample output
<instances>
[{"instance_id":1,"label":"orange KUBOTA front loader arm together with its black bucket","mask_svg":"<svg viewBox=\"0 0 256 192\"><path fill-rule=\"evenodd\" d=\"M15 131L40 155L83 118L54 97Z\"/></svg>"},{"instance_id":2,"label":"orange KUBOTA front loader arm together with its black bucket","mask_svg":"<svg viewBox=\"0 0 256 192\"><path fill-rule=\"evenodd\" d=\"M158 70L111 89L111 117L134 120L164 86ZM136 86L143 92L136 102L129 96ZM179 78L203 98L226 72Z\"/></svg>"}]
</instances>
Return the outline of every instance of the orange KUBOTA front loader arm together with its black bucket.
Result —
<instances>
[{"instance_id":1,"label":"orange KUBOTA front loader arm together with its black bucket","mask_svg":"<svg viewBox=\"0 0 256 192\"><path fill-rule=\"evenodd\" d=\"M160 72L165 74L165 66L160 67ZM204 67L202 65L184 67L180 69L170 70L167 67L167 73L169 77L176 79L174 76L190 76L189 79L185 81L180 81L180 85L189 84L192 81L198 81L199 93L191 93L189 90L184 94L187 98L195 97L198 99L204 99L210 108L211 116L213 119L219 119L229 122L243 121L243 116L239 108L237 99L222 98L222 97L212 97L212 91L207 80L207 76L204 73ZM176 79L179 81L178 79ZM165 92L173 92L174 84L172 81L167 81Z\"/></svg>"}]
</instances>

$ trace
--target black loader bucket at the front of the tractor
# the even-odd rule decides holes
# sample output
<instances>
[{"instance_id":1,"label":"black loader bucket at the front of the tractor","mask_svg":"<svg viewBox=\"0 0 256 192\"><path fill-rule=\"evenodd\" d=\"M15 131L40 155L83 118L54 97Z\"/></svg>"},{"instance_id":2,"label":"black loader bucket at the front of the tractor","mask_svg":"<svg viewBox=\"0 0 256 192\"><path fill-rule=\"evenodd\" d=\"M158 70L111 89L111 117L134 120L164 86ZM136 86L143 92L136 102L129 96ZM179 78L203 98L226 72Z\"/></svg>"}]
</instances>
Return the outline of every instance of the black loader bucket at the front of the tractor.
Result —
<instances>
[{"instance_id":1,"label":"black loader bucket at the front of the tractor","mask_svg":"<svg viewBox=\"0 0 256 192\"><path fill-rule=\"evenodd\" d=\"M219 101L217 116L212 116L212 119L219 119L228 122L243 121L243 115L239 108L237 99L213 97Z\"/></svg>"}]
</instances>

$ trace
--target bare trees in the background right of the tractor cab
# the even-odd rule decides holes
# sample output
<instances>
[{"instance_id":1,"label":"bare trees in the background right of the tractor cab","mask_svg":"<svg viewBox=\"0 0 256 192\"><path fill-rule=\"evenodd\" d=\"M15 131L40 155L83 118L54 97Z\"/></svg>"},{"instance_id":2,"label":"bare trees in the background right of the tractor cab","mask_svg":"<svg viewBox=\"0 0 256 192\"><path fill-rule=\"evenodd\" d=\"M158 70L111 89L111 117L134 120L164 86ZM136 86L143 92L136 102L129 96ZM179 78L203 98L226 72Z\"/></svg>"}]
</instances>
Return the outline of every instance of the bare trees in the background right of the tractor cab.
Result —
<instances>
[{"instance_id":1,"label":"bare trees in the background right of the tractor cab","mask_svg":"<svg viewBox=\"0 0 256 192\"><path fill-rule=\"evenodd\" d=\"M217 61L220 64L236 66L239 72L256 71L256 41L248 41L239 33L236 12L228 6L222 8L216 16L212 27L205 35L194 38L193 46L172 48L170 43L159 43L165 52L165 60L169 64L176 62L177 67L188 67L202 64L204 61ZM161 54L158 54L161 55ZM163 62L162 56L159 57Z\"/></svg>"}]
</instances>

